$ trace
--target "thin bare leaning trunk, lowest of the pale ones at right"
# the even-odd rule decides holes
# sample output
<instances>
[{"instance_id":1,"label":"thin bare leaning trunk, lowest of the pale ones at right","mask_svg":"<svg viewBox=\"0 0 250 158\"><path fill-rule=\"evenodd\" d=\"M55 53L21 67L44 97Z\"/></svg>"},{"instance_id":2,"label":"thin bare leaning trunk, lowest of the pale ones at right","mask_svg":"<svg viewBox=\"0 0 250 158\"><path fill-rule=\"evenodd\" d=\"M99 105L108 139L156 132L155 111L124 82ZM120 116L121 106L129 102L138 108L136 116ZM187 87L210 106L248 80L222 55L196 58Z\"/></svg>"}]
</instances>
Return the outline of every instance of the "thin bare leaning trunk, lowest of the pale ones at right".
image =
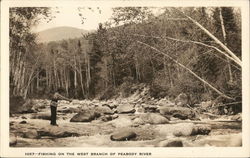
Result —
<instances>
[{"instance_id":1,"label":"thin bare leaning trunk, lowest of the pale ones at right","mask_svg":"<svg viewBox=\"0 0 250 158\"><path fill-rule=\"evenodd\" d=\"M204 79L202 79L201 77L199 77L198 75L196 75L192 70L190 70L189 68L187 68L186 66L184 66L183 64L179 63L177 60L175 60L174 58L172 58L171 56L169 56L166 53L163 53L162 51L156 49L155 47L152 47L146 43L143 43L141 41L137 41L138 43L147 46L153 50L155 50L156 52L168 57L170 60L172 60L173 62L175 62L177 65L179 65L180 67L182 67L183 69L187 70L189 73L191 73L194 77L196 77L198 80L200 80L201 82L203 82L204 84L206 84L208 87L210 87L212 90L214 90L216 93L218 93L220 96L227 98L227 99L233 99L227 95L225 95L224 93L222 93L221 91L219 91L218 89L216 89L215 87L213 87L211 84L209 84L207 81L205 81Z\"/></svg>"}]
</instances>

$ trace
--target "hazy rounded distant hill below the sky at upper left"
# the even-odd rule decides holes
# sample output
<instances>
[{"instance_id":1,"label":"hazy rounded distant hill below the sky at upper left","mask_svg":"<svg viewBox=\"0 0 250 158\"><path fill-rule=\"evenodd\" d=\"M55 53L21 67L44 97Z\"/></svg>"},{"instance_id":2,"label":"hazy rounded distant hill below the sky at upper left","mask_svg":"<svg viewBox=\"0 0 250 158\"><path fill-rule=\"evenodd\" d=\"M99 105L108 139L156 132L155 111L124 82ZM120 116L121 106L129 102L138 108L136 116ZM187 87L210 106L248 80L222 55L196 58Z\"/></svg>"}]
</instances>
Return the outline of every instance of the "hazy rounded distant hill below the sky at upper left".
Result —
<instances>
[{"instance_id":1,"label":"hazy rounded distant hill below the sky at upper left","mask_svg":"<svg viewBox=\"0 0 250 158\"><path fill-rule=\"evenodd\" d=\"M47 29L41 32L38 32L38 42L50 42L50 41L59 41L69 38L78 38L82 37L82 34L86 34L89 31L78 29L74 27L55 27Z\"/></svg>"}]
</instances>

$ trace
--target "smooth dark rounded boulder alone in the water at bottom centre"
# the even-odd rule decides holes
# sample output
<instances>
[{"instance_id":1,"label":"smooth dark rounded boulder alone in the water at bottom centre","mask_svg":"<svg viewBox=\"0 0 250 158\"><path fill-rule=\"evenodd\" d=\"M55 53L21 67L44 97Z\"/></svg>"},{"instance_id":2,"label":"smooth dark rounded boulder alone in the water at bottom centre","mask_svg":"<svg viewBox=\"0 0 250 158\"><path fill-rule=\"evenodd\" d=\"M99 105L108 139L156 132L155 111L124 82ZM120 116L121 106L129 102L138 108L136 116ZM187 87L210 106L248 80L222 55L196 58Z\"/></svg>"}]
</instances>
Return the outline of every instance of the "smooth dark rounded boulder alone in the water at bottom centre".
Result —
<instances>
[{"instance_id":1,"label":"smooth dark rounded boulder alone in the water at bottom centre","mask_svg":"<svg viewBox=\"0 0 250 158\"><path fill-rule=\"evenodd\" d=\"M110 136L110 139L112 141L128 141L136 137L136 133L127 130L127 129L121 129L118 132L115 132Z\"/></svg>"}]
</instances>

